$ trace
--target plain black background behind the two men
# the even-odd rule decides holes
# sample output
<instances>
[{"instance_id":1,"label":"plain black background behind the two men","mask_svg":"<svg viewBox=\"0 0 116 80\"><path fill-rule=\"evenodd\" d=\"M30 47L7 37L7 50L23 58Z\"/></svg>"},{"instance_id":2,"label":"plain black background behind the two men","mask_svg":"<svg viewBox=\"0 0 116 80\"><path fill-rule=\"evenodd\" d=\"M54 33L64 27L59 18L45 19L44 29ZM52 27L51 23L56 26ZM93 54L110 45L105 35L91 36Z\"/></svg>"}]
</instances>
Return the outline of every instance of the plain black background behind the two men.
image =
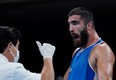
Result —
<instances>
[{"instance_id":1,"label":"plain black background behind the two men","mask_svg":"<svg viewBox=\"0 0 116 80\"><path fill-rule=\"evenodd\" d=\"M56 46L53 57L56 80L62 80L74 50L68 31L68 12L78 6L92 10L96 30L116 55L115 0L0 0L0 25L21 31L21 62L32 72L41 72L43 58L36 41ZM116 64L113 80L116 80Z\"/></svg>"}]
</instances>

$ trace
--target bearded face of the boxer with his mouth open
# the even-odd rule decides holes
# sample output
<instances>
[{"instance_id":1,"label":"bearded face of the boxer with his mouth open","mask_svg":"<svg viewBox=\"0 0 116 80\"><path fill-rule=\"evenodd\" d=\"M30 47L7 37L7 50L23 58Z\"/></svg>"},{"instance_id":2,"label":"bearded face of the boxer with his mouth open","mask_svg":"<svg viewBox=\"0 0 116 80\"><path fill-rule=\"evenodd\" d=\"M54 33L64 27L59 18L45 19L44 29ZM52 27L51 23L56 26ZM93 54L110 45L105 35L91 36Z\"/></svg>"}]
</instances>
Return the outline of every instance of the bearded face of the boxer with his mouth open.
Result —
<instances>
[{"instance_id":1,"label":"bearded face of the boxer with his mouth open","mask_svg":"<svg viewBox=\"0 0 116 80\"><path fill-rule=\"evenodd\" d=\"M81 16L72 15L68 18L69 31L73 38L74 45L82 47L86 45L88 40L87 26L84 24Z\"/></svg>"}]
</instances>

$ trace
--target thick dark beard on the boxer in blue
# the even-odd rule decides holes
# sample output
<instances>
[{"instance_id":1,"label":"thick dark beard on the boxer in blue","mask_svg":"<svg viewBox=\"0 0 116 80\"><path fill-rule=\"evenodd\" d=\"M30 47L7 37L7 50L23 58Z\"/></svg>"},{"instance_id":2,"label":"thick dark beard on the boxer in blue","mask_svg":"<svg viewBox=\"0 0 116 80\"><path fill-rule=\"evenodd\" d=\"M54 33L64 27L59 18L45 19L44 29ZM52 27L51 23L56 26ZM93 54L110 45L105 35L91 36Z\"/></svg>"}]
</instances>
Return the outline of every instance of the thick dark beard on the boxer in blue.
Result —
<instances>
[{"instance_id":1,"label":"thick dark beard on the boxer in blue","mask_svg":"<svg viewBox=\"0 0 116 80\"><path fill-rule=\"evenodd\" d=\"M73 38L74 46L75 47L84 47L87 42L88 42L88 33L87 29L84 28L81 32L80 35L78 35L78 38Z\"/></svg>"}]
</instances>

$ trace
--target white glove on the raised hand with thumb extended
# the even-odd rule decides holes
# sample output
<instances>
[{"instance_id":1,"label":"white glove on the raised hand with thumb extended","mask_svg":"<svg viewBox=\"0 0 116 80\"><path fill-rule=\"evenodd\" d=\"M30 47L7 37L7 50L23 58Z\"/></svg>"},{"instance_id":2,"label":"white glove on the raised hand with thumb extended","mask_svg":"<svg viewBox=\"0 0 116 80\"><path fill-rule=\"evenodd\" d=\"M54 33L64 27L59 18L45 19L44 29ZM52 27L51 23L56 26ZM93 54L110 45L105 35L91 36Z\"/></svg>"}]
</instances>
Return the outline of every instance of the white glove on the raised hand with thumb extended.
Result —
<instances>
[{"instance_id":1,"label":"white glove on the raised hand with thumb extended","mask_svg":"<svg viewBox=\"0 0 116 80\"><path fill-rule=\"evenodd\" d=\"M55 46L49 44L49 43L43 43L43 45L36 41L37 46L39 47L40 53L43 56L43 58L50 58L52 59L54 52L55 52Z\"/></svg>"}]
</instances>

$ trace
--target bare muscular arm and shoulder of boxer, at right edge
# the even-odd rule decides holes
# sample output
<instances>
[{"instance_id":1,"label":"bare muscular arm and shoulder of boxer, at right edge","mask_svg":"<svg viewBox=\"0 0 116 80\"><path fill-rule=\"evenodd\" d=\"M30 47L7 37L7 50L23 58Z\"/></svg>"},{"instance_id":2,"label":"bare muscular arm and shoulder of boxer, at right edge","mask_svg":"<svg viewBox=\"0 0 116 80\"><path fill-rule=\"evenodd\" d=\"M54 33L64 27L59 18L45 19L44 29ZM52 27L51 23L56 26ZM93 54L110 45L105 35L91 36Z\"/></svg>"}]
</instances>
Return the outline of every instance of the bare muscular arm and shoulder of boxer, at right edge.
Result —
<instances>
[{"instance_id":1,"label":"bare muscular arm and shoulder of boxer, at right edge","mask_svg":"<svg viewBox=\"0 0 116 80\"><path fill-rule=\"evenodd\" d=\"M98 80L112 80L115 57L106 44L101 44L95 50L97 54Z\"/></svg>"}]
</instances>

